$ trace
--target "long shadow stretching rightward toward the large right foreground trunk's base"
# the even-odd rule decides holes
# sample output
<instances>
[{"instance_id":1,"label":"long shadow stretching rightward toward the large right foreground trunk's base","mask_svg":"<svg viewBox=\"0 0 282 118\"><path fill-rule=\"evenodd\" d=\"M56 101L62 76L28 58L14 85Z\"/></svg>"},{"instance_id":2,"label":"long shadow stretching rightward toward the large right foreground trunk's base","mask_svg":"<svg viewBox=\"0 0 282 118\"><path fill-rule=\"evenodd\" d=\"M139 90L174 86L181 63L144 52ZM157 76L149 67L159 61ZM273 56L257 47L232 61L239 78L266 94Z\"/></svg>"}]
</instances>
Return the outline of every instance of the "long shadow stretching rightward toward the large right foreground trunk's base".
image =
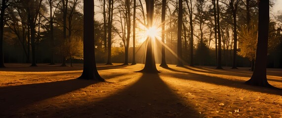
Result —
<instances>
[{"instance_id":1,"label":"long shadow stretching rightward toward the large right foreground trunk's base","mask_svg":"<svg viewBox=\"0 0 282 118\"><path fill-rule=\"evenodd\" d=\"M281 92L282 90L249 86L249 85L244 84L245 81L242 81L242 80L239 80L239 79L233 79L233 80L223 79L223 78L219 78L219 77L212 77L212 76L206 76L206 75L201 75L201 74L192 73L192 72L175 70L175 69L172 69L172 68L169 68L169 67L167 67L165 69L168 69L168 70L171 70L171 71L174 71L174 72L182 72L182 73L188 74L187 76L183 76L183 75L179 75L179 74L173 74L173 73L169 74L169 76L173 76L173 77L179 78L179 79L193 80L193 81L216 84L216 85L221 85L221 86L228 86L228 87L233 87L233 88L247 89L247 90L252 90L252 91L257 91L257 92L282 95L282 92Z\"/></svg>"}]
</instances>

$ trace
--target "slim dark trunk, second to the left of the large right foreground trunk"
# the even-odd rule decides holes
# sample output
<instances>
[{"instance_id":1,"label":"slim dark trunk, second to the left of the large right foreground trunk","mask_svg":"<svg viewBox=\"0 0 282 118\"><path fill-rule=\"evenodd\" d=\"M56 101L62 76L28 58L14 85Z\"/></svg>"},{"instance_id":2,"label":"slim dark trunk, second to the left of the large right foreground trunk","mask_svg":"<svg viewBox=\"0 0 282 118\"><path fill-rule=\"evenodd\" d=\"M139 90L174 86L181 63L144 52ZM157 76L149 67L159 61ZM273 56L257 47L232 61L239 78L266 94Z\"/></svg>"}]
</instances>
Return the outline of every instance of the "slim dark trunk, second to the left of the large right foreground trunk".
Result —
<instances>
[{"instance_id":1,"label":"slim dark trunk, second to the left of the large right foreground trunk","mask_svg":"<svg viewBox=\"0 0 282 118\"><path fill-rule=\"evenodd\" d=\"M218 62L217 62L217 67L216 69L223 69L221 67L221 34L220 34L220 25L219 25L219 5L218 5L218 0L216 2L217 5L217 33L218 33Z\"/></svg>"}]
</instances>

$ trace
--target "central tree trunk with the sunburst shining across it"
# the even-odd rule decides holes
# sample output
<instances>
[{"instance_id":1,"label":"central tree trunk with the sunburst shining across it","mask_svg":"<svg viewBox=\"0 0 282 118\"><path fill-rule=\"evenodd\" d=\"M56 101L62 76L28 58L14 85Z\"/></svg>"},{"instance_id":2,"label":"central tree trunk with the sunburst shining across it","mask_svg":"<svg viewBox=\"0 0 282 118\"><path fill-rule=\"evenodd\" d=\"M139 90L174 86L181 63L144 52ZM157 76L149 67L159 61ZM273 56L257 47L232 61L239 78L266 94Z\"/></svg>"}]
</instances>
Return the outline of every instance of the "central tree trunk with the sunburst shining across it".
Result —
<instances>
[{"instance_id":1,"label":"central tree trunk with the sunburst shining across it","mask_svg":"<svg viewBox=\"0 0 282 118\"><path fill-rule=\"evenodd\" d=\"M147 10L147 28L151 28L153 26L153 18L154 18L154 1L155 0L145 0L146 2L146 10ZM155 56L154 56L154 48L153 48L153 38L155 37L147 37L147 50L146 50L146 59L145 66L141 70L144 73L159 73L156 67Z\"/></svg>"}]
</instances>

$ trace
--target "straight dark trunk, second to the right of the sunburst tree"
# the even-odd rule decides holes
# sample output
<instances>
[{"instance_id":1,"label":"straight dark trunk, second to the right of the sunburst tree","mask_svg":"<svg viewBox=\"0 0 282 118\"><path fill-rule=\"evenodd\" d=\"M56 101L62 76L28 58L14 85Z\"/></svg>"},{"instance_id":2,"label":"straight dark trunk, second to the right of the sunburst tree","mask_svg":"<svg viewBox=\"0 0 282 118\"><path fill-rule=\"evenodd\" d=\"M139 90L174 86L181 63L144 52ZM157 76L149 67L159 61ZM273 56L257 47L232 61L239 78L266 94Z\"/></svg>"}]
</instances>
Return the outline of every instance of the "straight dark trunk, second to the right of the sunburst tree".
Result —
<instances>
[{"instance_id":1,"label":"straight dark trunk, second to the right of the sunburst tree","mask_svg":"<svg viewBox=\"0 0 282 118\"><path fill-rule=\"evenodd\" d=\"M183 66L182 62L182 17L183 17L183 5L182 0L178 1L178 27L177 27L177 66Z\"/></svg>"}]
</instances>

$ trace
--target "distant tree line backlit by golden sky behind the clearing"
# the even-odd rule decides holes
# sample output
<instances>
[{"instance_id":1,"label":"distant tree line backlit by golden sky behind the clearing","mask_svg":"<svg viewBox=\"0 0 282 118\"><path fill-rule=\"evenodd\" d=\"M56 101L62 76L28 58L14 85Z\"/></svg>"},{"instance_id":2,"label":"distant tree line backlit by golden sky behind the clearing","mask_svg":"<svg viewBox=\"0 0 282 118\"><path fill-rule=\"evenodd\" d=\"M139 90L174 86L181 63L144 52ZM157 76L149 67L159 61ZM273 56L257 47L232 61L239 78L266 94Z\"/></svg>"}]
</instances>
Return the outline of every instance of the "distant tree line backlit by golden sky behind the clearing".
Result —
<instances>
[{"instance_id":1,"label":"distant tree line backlit by golden sky behind the clearing","mask_svg":"<svg viewBox=\"0 0 282 118\"><path fill-rule=\"evenodd\" d=\"M148 24L146 0L94 0L97 62L143 63ZM257 0L154 0L153 25L162 31L157 63L254 65ZM274 5L270 2L270 7ZM62 63L83 60L81 0L1 0L3 62ZM269 21L268 67L282 67L282 13ZM145 41L146 42L146 41ZM161 45L161 42L166 46ZM169 48L169 49L168 49ZM142 52L142 51L143 52ZM170 50L172 52L170 52ZM177 55L175 55L177 54Z\"/></svg>"}]
</instances>

